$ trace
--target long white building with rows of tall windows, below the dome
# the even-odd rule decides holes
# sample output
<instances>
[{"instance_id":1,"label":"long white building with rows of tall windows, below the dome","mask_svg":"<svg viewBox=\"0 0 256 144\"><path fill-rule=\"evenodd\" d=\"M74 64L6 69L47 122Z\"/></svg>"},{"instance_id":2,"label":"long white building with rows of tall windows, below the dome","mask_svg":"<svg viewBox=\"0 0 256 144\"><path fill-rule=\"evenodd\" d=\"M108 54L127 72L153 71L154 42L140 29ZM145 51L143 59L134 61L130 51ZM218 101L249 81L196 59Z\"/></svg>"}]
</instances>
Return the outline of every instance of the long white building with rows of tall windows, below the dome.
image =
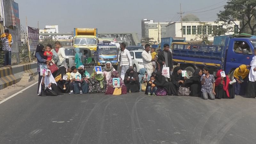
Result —
<instances>
[{"instance_id":1,"label":"long white building with rows of tall windows, below the dome","mask_svg":"<svg viewBox=\"0 0 256 144\"><path fill-rule=\"evenodd\" d=\"M230 35L239 32L239 21L234 21L231 24L234 28L232 32L228 32L225 35ZM213 41L211 34L217 28L225 28L222 26L222 22L216 24L214 21L185 21L182 22L183 37L186 41L199 41L202 40L199 36L207 35L209 41ZM182 37L181 36L181 23L173 22L166 26L166 37Z\"/></svg>"}]
</instances>

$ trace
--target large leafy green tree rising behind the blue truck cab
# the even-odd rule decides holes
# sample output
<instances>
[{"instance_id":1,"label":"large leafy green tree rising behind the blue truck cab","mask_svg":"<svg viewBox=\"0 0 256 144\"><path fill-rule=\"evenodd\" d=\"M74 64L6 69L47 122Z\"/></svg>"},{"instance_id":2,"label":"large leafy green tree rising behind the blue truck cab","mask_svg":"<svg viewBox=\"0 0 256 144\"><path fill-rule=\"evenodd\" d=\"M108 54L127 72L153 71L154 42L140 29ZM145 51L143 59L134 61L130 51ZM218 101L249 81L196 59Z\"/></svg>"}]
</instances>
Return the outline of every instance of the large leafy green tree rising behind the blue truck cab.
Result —
<instances>
[{"instance_id":1,"label":"large leafy green tree rising behind the blue truck cab","mask_svg":"<svg viewBox=\"0 0 256 144\"><path fill-rule=\"evenodd\" d=\"M254 35L256 23L253 20L256 18L256 1L228 0L224 6L224 10L217 13L217 16L217 22L224 21L225 25L235 23L235 20L239 20L239 33L244 33L248 26L251 30L251 35Z\"/></svg>"}]
</instances>

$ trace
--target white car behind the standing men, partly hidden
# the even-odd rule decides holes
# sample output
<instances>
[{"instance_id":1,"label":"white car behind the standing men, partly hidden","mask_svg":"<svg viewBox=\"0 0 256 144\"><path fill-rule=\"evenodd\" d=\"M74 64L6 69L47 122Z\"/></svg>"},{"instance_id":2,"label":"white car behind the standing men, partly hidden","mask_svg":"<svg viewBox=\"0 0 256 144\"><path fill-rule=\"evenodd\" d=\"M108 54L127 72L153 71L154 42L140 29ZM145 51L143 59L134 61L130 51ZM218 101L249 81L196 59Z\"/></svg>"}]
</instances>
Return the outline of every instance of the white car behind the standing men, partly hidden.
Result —
<instances>
[{"instance_id":1,"label":"white car behind the standing men, partly hidden","mask_svg":"<svg viewBox=\"0 0 256 144\"><path fill-rule=\"evenodd\" d=\"M133 70L139 72L140 68L144 68L141 53L142 50L130 51L132 57Z\"/></svg>"}]
</instances>

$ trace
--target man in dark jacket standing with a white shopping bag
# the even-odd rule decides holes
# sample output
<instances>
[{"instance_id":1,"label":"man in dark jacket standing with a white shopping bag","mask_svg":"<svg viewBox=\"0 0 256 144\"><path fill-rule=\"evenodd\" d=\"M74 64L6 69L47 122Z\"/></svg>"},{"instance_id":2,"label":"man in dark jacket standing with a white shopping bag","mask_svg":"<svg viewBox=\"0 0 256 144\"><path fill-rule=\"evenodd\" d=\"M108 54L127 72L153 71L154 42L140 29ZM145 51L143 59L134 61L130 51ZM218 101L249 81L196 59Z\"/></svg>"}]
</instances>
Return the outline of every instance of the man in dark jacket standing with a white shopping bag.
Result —
<instances>
[{"instance_id":1,"label":"man in dark jacket standing with a white shopping bag","mask_svg":"<svg viewBox=\"0 0 256 144\"><path fill-rule=\"evenodd\" d=\"M158 63L160 64L160 70L162 71L164 64L172 71L172 53L169 51L169 44L164 44L164 50L158 53Z\"/></svg>"}]
</instances>

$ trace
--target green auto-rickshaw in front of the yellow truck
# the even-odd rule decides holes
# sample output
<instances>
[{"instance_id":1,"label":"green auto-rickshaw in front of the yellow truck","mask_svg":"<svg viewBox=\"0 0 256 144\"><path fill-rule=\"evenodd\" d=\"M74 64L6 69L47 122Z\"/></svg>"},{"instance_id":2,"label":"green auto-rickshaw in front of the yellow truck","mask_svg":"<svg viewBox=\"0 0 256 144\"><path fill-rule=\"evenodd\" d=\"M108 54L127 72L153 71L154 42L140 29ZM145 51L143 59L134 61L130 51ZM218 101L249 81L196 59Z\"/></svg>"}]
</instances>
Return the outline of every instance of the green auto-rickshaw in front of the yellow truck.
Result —
<instances>
[{"instance_id":1,"label":"green auto-rickshaw in front of the yellow truck","mask_svg":"<svg viewBox=\"0 0 256 144\"><path fill-rule=\"evenodd\" d=\"M94 66L94 58L92 57L92 51L88 48L80 48L80 52L82 53L82 63L84 66L89 66L92 68Z\"/></svg>"}]
</instances>

